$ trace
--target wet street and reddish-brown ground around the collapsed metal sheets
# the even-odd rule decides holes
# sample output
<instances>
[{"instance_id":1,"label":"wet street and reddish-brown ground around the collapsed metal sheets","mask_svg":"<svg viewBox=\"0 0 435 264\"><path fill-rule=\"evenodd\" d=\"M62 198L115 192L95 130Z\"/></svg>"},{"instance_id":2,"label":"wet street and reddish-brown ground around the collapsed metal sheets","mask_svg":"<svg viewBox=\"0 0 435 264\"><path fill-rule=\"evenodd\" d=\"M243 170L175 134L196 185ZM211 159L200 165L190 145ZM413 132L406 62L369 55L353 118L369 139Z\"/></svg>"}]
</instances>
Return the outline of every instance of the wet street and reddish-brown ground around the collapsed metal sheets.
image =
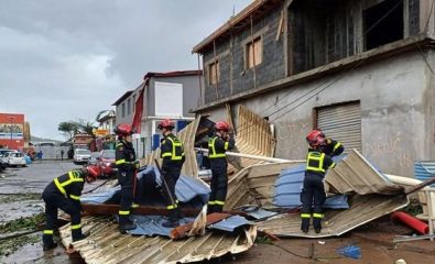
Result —
<instances>
[{"instance_id":1,"label":"wet street and reddish-brown ground around the collapsed metal sheets","mask_svg":"<svg viewBox=\"0 0 435 264\"><path fill-rule=\"evenodd\" d=\"M41 232L2 239L11 234L8 228L13 229L14 232L36 229L36 222L40 221L43 212L43 202L40 199L43 188L54 177L74 167L77 165L72 162L43 162L25 168L8 168L0 173L0 263L83 263L80 258L70 258L65 254L63 246L44 253ZM387 217L340 238L282 239L273 242L261 238L248 252L227 255L207 263L392 264L398 260L404 260L407 264L435 263L435 241L392 244L395 235L412 233L412 230L391 222ZM350 244L360 249L360 258L354 260L336 253L337 249Z\"/></svg>"}]
</instances>

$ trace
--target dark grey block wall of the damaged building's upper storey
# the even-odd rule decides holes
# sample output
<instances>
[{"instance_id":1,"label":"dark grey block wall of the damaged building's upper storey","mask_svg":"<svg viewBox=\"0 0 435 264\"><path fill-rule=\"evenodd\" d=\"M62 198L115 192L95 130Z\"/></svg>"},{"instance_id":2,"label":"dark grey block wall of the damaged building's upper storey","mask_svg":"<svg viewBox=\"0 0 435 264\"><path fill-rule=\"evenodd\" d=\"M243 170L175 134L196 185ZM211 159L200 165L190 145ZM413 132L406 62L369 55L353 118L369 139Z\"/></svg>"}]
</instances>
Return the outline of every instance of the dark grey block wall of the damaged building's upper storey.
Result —
<instances>
[{"instance_id":1,"label":"dark grey block wall of the damaged building's upper storey","mask_svg":"<svg viewBox=\"0 0 435 264\"><path fill-rule=\"evenodd\" d=\"M253 22L253 36L262 36L263 62L253 69L246 68L246 44L251 40L247 26L224 40L216 40L203 54L205 73L205 103L237 95L254 87L302 73L326 63L365 52L363 11L383 0L293 1L289 10L283 6ZM432 0L403 1L403 36L434 32ZM281 12L286 14L289 29L276 41ZM427 29L426 29L427 28ZM287 47L289 46L289 47ZM290 54L289 65L285 56ZM219 62L219 82L208 81L209 64Z\"/></svg>"}]
</instances>

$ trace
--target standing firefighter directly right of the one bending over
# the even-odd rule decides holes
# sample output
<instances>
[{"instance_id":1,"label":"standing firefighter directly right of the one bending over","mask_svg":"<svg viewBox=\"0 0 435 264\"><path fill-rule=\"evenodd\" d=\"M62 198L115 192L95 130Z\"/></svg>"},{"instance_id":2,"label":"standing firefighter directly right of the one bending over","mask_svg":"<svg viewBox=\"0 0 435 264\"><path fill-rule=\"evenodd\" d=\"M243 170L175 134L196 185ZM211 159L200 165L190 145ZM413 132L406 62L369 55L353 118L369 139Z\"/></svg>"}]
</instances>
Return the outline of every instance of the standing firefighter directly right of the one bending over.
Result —
<instances>
[{"instance_id":1,"label":"standing firefighter directly right of the one bending over","mask_svg":"<svg viewBox=\"0 0 435 264\"><path fill-rule=\"evenodd\" d=\"M130 219L130 211L135 207L133 199L137 193L135 170L139 168L139 161L135 160L135 152L131 135L133 130L129 124L119 124L115 129L118 135L118 143L115 152L115 164L118 168L118 183L121 186L121 201L119 205L119 230L124 232L137 228Z\"/></svg>"}]
</instances>

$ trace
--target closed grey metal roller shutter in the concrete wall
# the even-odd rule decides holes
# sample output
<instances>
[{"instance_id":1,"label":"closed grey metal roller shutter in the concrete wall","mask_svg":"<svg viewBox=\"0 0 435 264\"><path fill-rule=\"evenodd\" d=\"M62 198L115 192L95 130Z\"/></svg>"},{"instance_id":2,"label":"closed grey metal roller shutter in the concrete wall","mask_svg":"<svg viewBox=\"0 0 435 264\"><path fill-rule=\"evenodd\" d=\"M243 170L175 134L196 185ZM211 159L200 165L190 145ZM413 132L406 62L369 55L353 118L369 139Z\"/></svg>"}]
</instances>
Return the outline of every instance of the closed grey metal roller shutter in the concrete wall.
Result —
<instances>
[{"instance_id":1,"label":"closed grey metal roller shutter in the concrete wall","mask_svg":"<svg viewBox=\"0 0 435 264\"><path fill-rule=\"evenodd\" d=\"M327 138L339 141L345 153L351 148L361 152L361 111L359 102L317 109L317 127Z\"/></svg>"}]
</instances>

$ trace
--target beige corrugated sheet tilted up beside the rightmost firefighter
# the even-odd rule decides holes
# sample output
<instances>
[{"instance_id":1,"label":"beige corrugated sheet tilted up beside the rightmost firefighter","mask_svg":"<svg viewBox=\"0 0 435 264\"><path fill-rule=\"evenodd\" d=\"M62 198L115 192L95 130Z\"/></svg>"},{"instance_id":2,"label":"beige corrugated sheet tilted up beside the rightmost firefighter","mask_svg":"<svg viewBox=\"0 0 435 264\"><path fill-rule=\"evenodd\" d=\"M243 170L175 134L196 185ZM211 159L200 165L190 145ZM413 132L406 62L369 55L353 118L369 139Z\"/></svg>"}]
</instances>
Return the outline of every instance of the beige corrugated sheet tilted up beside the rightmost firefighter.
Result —
<instances>
[{"instance_id":1,"label":"beige corrugated sheet tilted up beside the rightmost firefighter","mask_svg":"<svg viewBox=\"0 0 435 264\"><path fill-rule=\"evenodd\" d=\"M403 191L403 187L392 184L356 150L351 150L335 168L329 169L325 180L330 185L326 186L327 190L331 187L339 194L394 195Z\"/></svg>"}]
</instances>

